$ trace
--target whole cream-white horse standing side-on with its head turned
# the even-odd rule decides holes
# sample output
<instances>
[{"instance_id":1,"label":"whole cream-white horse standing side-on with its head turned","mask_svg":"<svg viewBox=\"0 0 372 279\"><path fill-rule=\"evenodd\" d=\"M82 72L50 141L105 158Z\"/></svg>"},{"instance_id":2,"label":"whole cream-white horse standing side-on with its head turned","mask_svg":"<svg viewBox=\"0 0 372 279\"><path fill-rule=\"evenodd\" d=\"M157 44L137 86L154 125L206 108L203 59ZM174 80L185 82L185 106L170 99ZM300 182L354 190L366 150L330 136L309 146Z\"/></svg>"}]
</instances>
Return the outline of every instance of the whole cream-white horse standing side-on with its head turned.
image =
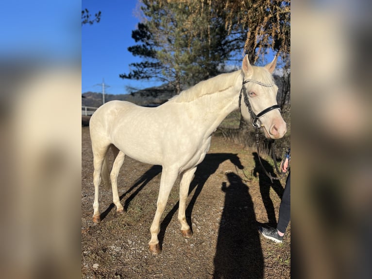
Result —
<instances>
[{"instance_id":1,"label":"whole cream-white horse standing side-on with its head turned","mask_svg":"<svg viewBox=\"0 0 372 279\"><path fill-rule=\"evenodd\" d=\"M93 222L101 221L98 191L101 172L103 179L108 178L108 171L104 175L107 168L102 165L111 146L116 158L110 178L118 213L123 212L123 206L118 196L117 178L125 155L163 166L157 209L150 228L152 254L160 253L157 236L160 218L178 175L181 178L178 220L182 235L191 237L185 215L189 184L209 149L212 133L222 120L240 107L246 120L255 118L254 124L259 122L267 138L279 139L287 131L276 103L278 87L271 76L275 66L276 56L265 67L256 67L249 63L246 55L242 70L202 81L158 107L111 101L97 109L90 120L94 155Z\"/></svg>"}]
</instances>

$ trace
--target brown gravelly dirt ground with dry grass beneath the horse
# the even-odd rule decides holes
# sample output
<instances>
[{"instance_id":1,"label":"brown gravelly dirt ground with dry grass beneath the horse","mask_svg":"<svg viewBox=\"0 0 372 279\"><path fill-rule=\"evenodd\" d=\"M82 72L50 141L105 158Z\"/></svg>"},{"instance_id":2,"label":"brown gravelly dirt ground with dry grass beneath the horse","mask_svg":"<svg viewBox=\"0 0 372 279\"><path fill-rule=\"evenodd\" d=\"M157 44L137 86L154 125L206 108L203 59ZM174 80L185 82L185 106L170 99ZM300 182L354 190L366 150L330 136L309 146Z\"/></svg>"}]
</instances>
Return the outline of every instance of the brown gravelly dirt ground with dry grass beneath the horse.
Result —
<instances>
[{"instance_id":1,"label":"brown gravelly dirt ground with dry grass beneath the horse","mask_svg":"<svg viewBox=\"0 0 372 279\"><path fill-rule=\"evenodd\" d=\"M198 166L184 239L177 220L179 180L161 220L161 254L148 250L161 167L126 157L118 177L126 212L116 214L111 189L100 188L101 223L92 222L93 155L89 127L82 127L82 278L290 278L290 225L282 244L266 240L260 225L276 226L285 178L271 184L257 155L221 136ZM267 170L270 158L263 157Z\"/></svg>"}]
</instances>

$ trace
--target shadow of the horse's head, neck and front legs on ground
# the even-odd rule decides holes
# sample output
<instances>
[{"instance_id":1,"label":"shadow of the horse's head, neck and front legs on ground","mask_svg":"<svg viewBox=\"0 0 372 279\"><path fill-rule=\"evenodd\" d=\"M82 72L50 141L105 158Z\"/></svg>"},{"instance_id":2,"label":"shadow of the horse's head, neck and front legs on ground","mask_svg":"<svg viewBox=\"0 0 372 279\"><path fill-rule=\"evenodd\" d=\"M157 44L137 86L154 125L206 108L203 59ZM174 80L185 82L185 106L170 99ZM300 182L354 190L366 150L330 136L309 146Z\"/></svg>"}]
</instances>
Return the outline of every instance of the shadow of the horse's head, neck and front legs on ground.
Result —
<instances>
[{"instance_id":1,"label":"shadow of the horse's head, neck and front legs on ground","mask_svg":"<svg viewBox=\"0 0 372 279\"><path fill-rule=\"evenodd\" d=\"M210 153L206 154L205 158L202 163L200 163L196 169L194 174L194 178L190 183L190 187L188 190L188 194L190 195L191 192L194 191L194 194L191 197L190 202L186 208L186 221L192 230L191 225L191 213L192 209L194 208L195 202L202 192L203 186L205 182L209 178L210 175L214 174L217 169L219 168L220 164L226 160L230 160L238 169L243 169L243 165L240 162L239 157L237 154L232 153ZM168 227L170 220L172 219L174 213L179 208L179 201L174 205L174 207L168 212L168 214L164 217L163 221L160 224L160 231L158 234L159 245L162 248L163 239L165 235L166 228Z\"/></svg>"}]
</instances>

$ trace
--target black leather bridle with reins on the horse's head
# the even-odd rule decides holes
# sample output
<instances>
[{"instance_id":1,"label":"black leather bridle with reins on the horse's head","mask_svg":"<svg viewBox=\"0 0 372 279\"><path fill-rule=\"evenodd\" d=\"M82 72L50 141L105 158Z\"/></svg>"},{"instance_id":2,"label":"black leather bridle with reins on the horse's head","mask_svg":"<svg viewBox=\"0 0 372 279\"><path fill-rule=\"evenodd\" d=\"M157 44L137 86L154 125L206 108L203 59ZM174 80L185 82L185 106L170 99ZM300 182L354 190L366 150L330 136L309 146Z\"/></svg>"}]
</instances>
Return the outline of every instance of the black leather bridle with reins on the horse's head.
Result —
<instances>
[{"instance_id":1,"label":"black leather bridle with reins on the horse's head","mask_svg":"<svg viewBox=\"0 0 372 279\"><path fill-rule=\"evenodd\" d=\"M247 95L247 92L246 92L245 87L244 87L244 85L248 82L253 82L255 84L258 84L258 85L264 86L264 87L272 87L272 86L274 86L274 83L264 84L264 83L261 83L259 81L255 81L255 80L252 80L252 79L243 80L243 84L242 84L242 87L241 87L241 90L240 90L240 95L239 95L239 109L241 109L241 96L243 95L244 104L247 106L248 111L251 115L251 122L252 122L252 125L254 126L254 129L255 129L258 160L260 161L261 167L264 170L264 172L266 173L266 175L269 176L269 178L271 180L271 183L273 183L272 182L273 179L276 179L276 180L281 179L288 172L288 170L284 173L279 170L278 164L276 162L276 156L275 156L275 143L274 143L274 140L272 140L272 143L271 143L272 159L274 161L274 166L275 166L276 172L279 174L279 177L273 177L268 171L266 171L265 167L263 166L263 164L261 162L261 157L260 157L260 153L259 153L259 143L260 143L259 129L261 128L262 124L259 125L258 121L260 120L260 118L262 116L264 116L265 114L267 114L271 110L279 109L279 111L281 111L281 108L280 108L279 105L271 105L271 106L269 106L268 108L265 108L264 110L262 110L260 113L258 113L256 115L254 113L253 109L252 109L251 103L249 102L248 95Z\"/></svg>"}]
</instances>

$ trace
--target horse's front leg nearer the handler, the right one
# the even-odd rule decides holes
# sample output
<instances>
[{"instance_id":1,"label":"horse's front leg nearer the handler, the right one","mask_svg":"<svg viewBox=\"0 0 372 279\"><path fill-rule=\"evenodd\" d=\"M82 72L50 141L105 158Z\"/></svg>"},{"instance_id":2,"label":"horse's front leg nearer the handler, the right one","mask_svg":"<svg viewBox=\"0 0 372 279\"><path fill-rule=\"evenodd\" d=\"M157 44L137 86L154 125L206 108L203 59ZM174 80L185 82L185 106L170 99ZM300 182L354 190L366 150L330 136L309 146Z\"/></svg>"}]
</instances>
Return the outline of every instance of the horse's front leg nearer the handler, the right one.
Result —
<instances>
[{"instance_id":1,"label":"horse's front leg nearer the handler, the right one","mask_svg":"<svg viewBox=\"0 0 372 279\"><path fill-rule=\"evenodd\" d=\"M190 238L192 236L192 231L186 221L186 200L188 196L188 189L190 187L191 180L194 177L195 171L196 167L184 172L180 182L180 207L178 209L178 220L181 223L181 233L185 238Z\"/></svg>"}]
</instances>

